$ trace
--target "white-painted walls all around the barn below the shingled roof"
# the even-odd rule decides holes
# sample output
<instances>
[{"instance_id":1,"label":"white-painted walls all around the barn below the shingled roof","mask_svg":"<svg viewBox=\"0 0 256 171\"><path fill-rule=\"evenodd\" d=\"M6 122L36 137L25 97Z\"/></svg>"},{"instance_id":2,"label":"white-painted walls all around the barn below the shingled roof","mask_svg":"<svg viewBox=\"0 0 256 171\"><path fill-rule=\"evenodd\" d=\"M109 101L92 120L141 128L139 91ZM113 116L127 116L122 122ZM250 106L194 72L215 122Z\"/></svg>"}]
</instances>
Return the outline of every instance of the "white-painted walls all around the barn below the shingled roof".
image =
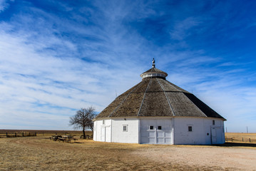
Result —
<instances>
[{"instance_id":1,"label":"white-painted walls all around the barn below the shingled roof","mask_svg":"<svg viewBox=\"0 0 256 171\"><path fill-rule=\"evenodd\" d=\"M213 125L213 120L215 124ZM123 126L127 131L123 131ZM150 130L150 125L153 130ZM158 129L161 126L161 130ZM188 131L192 126L192 131ZM192 144L225 143L224 122L218 118L114 118L94 122L93 140L103 142Z\"/></svg>"}]
</instances>

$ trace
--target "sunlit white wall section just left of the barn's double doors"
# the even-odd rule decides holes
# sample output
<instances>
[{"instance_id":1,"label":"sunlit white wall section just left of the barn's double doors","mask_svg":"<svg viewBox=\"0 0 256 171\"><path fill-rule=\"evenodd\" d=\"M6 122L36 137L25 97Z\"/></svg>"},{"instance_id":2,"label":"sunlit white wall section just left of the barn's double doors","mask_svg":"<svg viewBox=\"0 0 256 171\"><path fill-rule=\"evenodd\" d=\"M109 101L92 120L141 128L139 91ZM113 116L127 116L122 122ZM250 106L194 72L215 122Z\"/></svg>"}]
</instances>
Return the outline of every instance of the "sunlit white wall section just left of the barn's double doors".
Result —
<instances>
[{"instance_id":1,"label":"sunlit white wall section just left of the barn's double doors","mask_svg":"<svg viewBox=\"0 0 256 171\"><path fill-rule=\"evenodd\" d=\"M123 131L123 125L128 126L127 131ZM139 143L138 130L138 118L115 118L112 120L112 142Z\"/></svg>"}]
</instances>

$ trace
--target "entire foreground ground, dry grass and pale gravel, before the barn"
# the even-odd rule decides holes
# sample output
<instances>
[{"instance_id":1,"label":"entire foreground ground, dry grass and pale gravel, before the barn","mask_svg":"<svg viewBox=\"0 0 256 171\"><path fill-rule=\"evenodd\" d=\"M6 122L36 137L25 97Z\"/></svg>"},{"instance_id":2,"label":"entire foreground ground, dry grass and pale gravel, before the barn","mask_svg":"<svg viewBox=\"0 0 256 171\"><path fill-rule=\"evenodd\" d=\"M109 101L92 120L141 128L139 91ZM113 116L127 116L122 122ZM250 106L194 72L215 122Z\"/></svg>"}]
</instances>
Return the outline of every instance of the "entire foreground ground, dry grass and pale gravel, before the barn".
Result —
<instances>
[{"instance_id":1,"label":"entire foreground ground, dry grass and pale gravel, before the barn","mask_svg":"<svg viewBox=\"0 0 256 171\"><path fill-rule=\"evenodd\" d=\"M256 145L138 145L0 138L0 170L256 170Z\"/></svg>"}]
</instances>

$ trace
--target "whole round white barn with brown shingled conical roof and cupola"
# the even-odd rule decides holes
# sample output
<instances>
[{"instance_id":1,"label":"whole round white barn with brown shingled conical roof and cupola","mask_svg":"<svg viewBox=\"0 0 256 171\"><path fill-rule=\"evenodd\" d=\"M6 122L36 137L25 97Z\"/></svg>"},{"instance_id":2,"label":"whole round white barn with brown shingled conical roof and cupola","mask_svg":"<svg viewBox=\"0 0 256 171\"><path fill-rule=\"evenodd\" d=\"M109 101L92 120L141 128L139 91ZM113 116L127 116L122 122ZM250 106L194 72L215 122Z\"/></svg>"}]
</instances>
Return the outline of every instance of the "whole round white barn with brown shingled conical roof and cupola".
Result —
<instances>
[{"instance_id":1,"label":"whole round white barn with brown shingled conical roof and cupola","mask_svg":"<svg viewBox=\"0 0 256 171\"><path fill-rule=\"evenodd\" d=\"M94 120L93 140L140 144L210 145L225 142L224 121L195 95L166 81L152 68L142 81L108 105Z\"/></svg>"}]
</instances>

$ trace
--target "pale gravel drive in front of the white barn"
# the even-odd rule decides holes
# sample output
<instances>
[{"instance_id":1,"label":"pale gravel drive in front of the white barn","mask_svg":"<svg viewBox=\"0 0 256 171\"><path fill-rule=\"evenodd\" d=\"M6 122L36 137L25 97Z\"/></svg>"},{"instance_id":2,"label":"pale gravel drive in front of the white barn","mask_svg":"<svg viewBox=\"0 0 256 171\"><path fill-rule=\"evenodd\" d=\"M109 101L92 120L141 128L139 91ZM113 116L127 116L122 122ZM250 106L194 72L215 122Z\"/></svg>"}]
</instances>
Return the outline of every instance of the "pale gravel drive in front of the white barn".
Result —
<instances>
[{"instance_id":1,"label":"pale gravel drive in front of the white barn","mask_svg":"<svg viewBox=\"0 0 256 171\"><path fill-rule=\"evenodd\" d=\"M221 170L256 170L256 148L173 145L139 149L133 154L161 163L174 162Z\"/></svg>"}]
</instances>

